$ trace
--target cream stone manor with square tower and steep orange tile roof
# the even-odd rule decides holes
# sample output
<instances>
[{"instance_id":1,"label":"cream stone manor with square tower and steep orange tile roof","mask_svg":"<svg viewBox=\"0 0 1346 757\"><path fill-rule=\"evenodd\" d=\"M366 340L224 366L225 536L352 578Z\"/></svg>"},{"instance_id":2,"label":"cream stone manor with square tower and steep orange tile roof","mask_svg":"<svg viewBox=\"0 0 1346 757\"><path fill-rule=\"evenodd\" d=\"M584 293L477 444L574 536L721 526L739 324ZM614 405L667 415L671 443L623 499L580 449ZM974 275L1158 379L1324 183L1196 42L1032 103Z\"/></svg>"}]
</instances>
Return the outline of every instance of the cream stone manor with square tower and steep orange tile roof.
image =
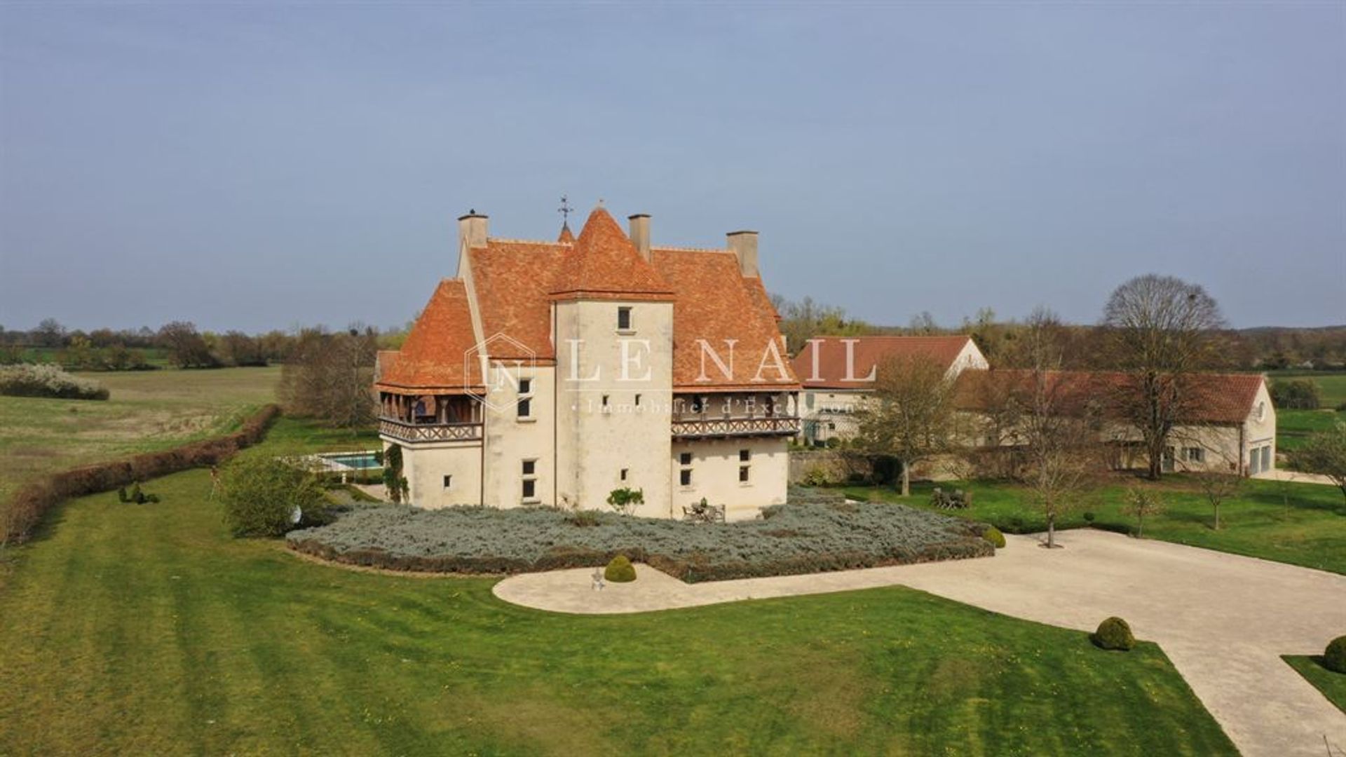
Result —
<instances>
[{"instance_id":1,"label":"cream stone manor with square tower and steep orange tile roof","mask_svg":"<svg viewBox=\"0 0 1346 757\"><path fill-rule=\"evenodd\" d=\"M458 246L378 360L380 436L413 504L606 508L629 488L638 515L705 498L734 519L785 501L800 383L756 232L653 246L649 216L627 234L598 207L579 237L520 241L470 213Z\"/></svg>"}]
</instances>

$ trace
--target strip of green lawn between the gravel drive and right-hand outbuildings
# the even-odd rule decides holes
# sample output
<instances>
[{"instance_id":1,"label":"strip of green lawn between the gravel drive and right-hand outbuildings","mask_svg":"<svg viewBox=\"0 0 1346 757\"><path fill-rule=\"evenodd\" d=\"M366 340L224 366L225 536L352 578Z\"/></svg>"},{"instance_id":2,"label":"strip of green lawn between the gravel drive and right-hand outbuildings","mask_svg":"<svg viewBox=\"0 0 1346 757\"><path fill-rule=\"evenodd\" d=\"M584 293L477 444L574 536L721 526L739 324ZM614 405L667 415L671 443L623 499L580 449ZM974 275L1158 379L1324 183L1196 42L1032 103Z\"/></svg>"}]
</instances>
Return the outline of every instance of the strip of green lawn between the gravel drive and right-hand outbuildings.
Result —
<instances>
[{"instance_id":1,"label":"strip of green lawn between the gravel drive and right-hand outbuildings","mask_svg":"<svg viewBox=\"0 0 1346 757\"><path fill-rule=\"evenodd\" d=\"M1117 474L1088 492L1078 509L1058 527L1086 525L1085 512L1094 513L1094 525L1109 531L1132 532L1136 519L1123 513L1128 485L1155 486L1160 490L1164 512L1145 519L1145 536L1279 560L1333 572L1346 574L1346 500L1335 486L1287 484L1249 480L1244 490L1221 506L1221 529L1211 528L1211 508L1197 482L1184 475L1168 475L1160 484L1145 484ZM931 484L917 484L911 497L903 498L891 488L847 488L849 497L882 500L909 505L930 505ZM961 481L941 484L973 493L972 506L953 511L1003 531L1028 533L1046 531L1047 523L1032 505L1031 493L1003 481Z\"/></svg>"}]
</instances>

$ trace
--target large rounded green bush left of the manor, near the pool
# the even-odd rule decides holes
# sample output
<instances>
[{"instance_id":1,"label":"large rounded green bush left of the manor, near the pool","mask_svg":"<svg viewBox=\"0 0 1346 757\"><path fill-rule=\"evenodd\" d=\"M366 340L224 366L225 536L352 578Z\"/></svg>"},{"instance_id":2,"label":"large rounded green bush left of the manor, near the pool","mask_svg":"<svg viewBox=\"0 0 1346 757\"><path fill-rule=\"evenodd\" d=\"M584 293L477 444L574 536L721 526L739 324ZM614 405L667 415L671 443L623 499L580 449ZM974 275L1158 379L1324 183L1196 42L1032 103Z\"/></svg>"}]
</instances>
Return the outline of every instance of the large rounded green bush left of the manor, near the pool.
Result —
<instances>
[{"instance_id":1,"label":"large rounded green bush left of the manor, near the pool","mask_svg":"<svg viewBox=\"0 0 1346 757\"><path fill-rule=\"evenodd\" d=\"M219 486L225 523L234 536L280 536L304 520L326 520L318 477L275 458L230 462L221 471Z\"/></svg>"}]
</instances>

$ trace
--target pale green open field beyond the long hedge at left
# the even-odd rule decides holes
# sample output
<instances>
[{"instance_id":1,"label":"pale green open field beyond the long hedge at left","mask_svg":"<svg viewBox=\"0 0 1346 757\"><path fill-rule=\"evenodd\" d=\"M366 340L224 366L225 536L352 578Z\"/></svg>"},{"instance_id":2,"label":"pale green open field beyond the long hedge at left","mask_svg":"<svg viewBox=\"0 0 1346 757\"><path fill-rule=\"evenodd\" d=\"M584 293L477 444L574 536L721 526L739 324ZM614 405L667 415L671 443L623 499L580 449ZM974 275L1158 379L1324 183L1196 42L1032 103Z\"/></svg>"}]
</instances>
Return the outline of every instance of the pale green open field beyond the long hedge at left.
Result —
<instances>
[{"instance_id":1,"label":"pale green open field beyond the long hedge at left","mask_svg":"<svg viewBox=\"0 0 1346 757\"><path fill-rule=\"evenodd\" d=\"M0 502L24 481L75 465L233 431L275 399L279 368L81 373L106 401L0 397Z\"/></svg>"}]
</instances>

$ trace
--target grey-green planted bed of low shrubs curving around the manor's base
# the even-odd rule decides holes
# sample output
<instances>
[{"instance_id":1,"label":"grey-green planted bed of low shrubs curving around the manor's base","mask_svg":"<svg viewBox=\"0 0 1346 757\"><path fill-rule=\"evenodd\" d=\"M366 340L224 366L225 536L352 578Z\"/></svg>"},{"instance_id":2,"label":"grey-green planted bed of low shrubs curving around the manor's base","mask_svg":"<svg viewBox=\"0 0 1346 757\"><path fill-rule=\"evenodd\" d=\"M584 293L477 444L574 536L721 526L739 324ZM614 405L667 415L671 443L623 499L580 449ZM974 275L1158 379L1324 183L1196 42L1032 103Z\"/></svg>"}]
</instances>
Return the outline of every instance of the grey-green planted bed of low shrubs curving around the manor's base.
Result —
<instances>
[{"instance_id":1,"label":"grey-green planted bed of low shrubs curving around the manor's base","mask_svg":"<svg viewBox=\"0 0 1346 757\"><path fill-rule=\"evenodd\" d=\"M980 527L891 504L808 501L762 520L690 524L551 508L358 508L292 531L292 550L392 570L509 574L606 564L616 555L686 582L790 575L995 554Z\"/></svg>"}]
</instances>

